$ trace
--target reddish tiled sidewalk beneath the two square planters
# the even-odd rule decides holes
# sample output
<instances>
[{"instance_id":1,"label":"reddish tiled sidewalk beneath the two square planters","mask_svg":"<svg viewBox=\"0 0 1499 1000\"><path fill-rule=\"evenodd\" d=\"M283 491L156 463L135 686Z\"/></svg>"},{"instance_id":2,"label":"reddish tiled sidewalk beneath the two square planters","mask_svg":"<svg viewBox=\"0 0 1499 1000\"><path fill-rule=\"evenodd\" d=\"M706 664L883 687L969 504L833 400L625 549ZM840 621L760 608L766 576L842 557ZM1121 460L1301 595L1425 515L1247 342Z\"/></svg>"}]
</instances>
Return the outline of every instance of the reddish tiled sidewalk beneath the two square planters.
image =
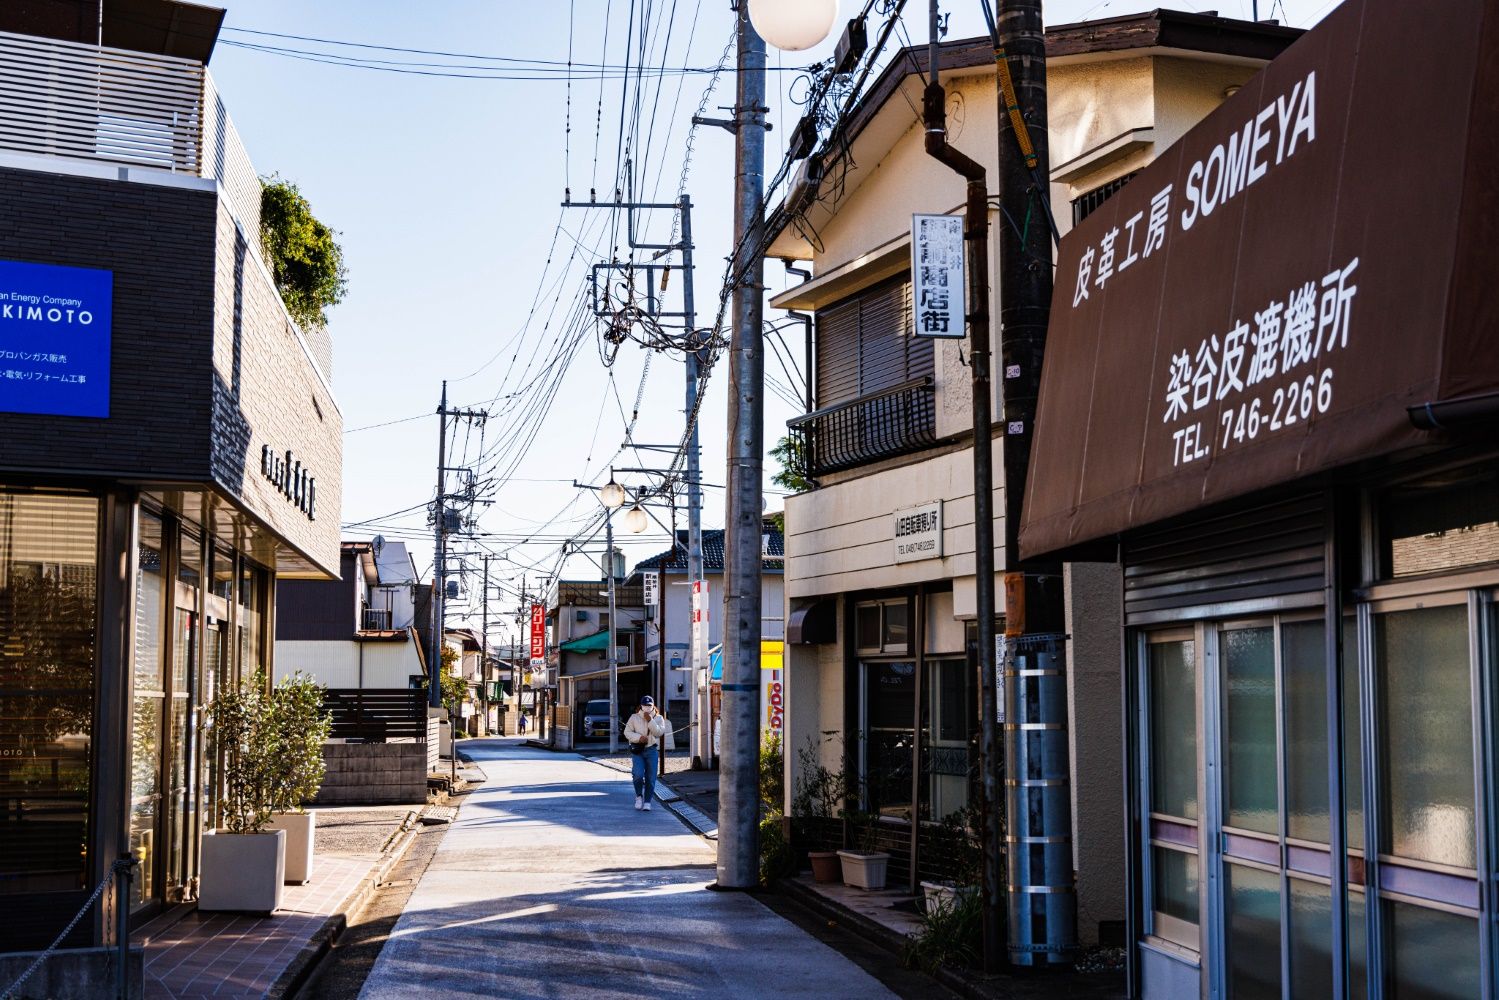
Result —
<instances>
[{"instance_id":1,"label":"reddish tiled sidewalk beneath the two square planters","mask_svg":"<svg viewBox=\"0 0 1499 1000\"><path fill-rule=\"evenodd\" d=\"M313 879L286 886L274 916L199 913L189 904L141 927L130 940L145 948L147 1000L286 996L405 849L406 835L396 834L420 808L318 810Z\"/></svg>"}]
</instances>

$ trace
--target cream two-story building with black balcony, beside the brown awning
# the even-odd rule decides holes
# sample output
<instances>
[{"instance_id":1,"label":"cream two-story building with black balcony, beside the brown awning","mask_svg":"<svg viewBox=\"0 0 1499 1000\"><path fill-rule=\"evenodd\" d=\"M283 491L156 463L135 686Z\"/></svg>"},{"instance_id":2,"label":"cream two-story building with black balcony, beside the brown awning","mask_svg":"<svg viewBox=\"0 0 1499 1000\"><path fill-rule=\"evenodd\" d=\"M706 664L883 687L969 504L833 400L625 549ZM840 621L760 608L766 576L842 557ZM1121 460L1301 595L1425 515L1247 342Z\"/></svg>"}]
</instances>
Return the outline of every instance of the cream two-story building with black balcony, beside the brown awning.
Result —
<instances>
[{"instance_id":1,"label":"cream two-story building with black balcony, beside the brown awning","mask_svg":"<svg viewBox=\"0 0 1499 1000\"><path fill-rule=\"evenodd\" d=\"M1046 31L1051 205L1066 231L1130 183L1298 31L1156 10ZM814 483L785 502L787 796L802 750L848 774L880 813L892 877L944 874L925 825L976 799L977 673L971 382L967 342L914 336L911 216L956 214L964 180L926 154L925 48L895 55L839 148L808 160L772 216L769 258L814 276L770 304L812 313L811 412L790 423ZM997 177L998 106L988 39L940 46L950 142ZM991 198L997 195L991 193ZM1046 225L991 211L1001 225ZM997 276L988 277L997 288ZM989 315L998 316L997 301ZM998 342L998 334L995 334ZM1001 414L995 373L994 414ZM979 447L1000 457L1003 426ZM1001 475L1001 474L1000 474ZM1003 538L995 483L994 537ZM914 532L914 535L913 535ZM917 537L919 535L919 537ZM920 544L911 544L911 541ZM1009 555L995 553L1003 570ZM997 586L1003 594L1003 586ZM1069 565L1067 694L1078 927L1124 930L1120 577ZM1004 609L998 609L1003 616ZM833 736L829 738L827 735Z\"/></svg>"}]
</instances>

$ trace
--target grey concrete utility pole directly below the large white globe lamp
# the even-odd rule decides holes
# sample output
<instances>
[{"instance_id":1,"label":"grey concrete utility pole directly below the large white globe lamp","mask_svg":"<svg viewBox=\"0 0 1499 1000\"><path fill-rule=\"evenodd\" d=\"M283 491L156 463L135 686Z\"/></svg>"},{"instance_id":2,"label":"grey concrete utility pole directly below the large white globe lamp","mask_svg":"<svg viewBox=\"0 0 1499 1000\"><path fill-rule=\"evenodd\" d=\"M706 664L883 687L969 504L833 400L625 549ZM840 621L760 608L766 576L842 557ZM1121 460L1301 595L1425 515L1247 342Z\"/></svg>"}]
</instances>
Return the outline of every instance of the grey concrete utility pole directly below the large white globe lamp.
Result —
<instances>
[{"instance_id":1,"label":"grey concrete utility pole directly below the large white globe lamp","mask_svg":"<svg viewBox=\"0 0 1499 1000\"><path fill-rule=\"evenodd\" d=\"M764 40L739 3L735 102L733 339L729 352L729 490L724 531L723 747L718 888L760 880L760 499L764 462ZM708 718L705 717L705 724Z\"/></svg>"}]
</instances>

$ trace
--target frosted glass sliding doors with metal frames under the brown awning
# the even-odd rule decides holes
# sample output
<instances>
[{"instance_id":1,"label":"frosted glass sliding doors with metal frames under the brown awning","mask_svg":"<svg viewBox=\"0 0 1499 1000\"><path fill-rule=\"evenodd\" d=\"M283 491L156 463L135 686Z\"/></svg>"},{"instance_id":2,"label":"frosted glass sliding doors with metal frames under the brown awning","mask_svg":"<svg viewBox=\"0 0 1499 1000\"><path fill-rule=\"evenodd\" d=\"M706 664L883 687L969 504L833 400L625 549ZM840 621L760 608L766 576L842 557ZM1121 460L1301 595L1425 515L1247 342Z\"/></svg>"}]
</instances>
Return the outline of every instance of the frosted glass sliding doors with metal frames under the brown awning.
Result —
<instances>
[{"instance_id":1,"label":"frosted glass sliding doors with metal frames under the brown awning","mask_svg":"<svg viewBox=\"0 0 1499 1000\"><path fill-rule=\"evenodd\" d=\"M1342 979L1360 1000L1499 997L1495 483L1364 495L1336 751L1313 601L1132 630L1141 936L1196 955L1207 996L1321 999ZM1339 760L1345 895L1331 888Z\"/></svg>"}]
</instances>

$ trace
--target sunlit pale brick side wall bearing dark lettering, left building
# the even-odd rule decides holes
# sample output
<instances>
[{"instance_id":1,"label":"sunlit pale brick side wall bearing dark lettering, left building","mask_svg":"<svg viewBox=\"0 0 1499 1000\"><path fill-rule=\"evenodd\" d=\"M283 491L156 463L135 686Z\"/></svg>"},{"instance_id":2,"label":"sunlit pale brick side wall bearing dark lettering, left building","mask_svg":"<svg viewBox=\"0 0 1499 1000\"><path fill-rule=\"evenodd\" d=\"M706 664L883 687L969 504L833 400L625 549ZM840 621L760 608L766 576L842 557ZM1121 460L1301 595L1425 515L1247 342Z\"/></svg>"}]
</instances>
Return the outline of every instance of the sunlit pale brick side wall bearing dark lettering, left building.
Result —
<instances>
[{"instance_id":1,"label":"sunlit pale brick side wall bearing dark lettering, left building","mask_svg":"<svg viewBox=\"0 0 1499 1000\"><path fill-rule=\"evenodd\" d=\"M213 339L213 477L277 534L339 567L343 417L318 378L270 274L226 207L217 214ZM261 448L316 477L315 519L261 475Z\"/></svg>"}]
</instances>

